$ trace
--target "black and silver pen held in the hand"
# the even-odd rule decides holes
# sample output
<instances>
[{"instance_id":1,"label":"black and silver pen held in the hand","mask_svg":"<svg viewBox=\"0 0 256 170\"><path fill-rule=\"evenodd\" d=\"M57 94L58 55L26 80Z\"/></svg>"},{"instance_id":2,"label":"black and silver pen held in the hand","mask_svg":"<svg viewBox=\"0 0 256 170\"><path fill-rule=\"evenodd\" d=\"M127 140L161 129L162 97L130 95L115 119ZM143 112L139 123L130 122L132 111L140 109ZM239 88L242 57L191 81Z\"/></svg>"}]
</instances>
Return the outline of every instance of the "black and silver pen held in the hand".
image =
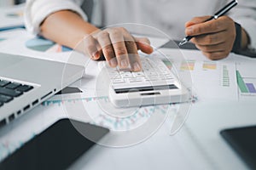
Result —
<instances>
[{"instance_id":1,"label":"black and silver pen held in the hand","mask_svg":"<svg viewBox=\"0 0 256 170\"><path fill-rule=\"evenodd\" d=\"M237 4L237 1L236 1L236 0L231 1L231 2L228 3L226 6L224 6L224 8L219 9L217 13L213 14L209 19L205 20L204 22L207 22L207 21L209 21L209 20L217 20L218 17L220 17L220 16L226 14L231 8L235 7L236 4ZM192 37L195 37L195 36L187 36L187 37L184 37L184 38L183 38L183 41L178 43L178 46L182 46L183 44L189 42L189 40L190 40Z\"/></svg>"}]
</instances>

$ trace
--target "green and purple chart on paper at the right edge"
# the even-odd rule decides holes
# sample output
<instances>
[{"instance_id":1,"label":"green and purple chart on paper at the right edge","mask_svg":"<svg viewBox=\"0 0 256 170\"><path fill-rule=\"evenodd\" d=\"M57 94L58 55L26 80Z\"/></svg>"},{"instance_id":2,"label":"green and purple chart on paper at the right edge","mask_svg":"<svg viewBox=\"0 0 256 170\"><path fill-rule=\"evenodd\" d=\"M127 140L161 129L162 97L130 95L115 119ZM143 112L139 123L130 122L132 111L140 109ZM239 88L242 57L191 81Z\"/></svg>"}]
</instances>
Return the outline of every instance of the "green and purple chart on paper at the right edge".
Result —
<instances>
[{"instance_id":1,"label":"green and purple chart on paper at the right edge","mask_svg":"<svg viewBox=\"0 0 256 170\"><path fill-rule=\"evenodd\" d=\"M241 77L239 71L236 71L237 85L242 94L256 94L256 78Z\"/></svg>"}]
</instances>

